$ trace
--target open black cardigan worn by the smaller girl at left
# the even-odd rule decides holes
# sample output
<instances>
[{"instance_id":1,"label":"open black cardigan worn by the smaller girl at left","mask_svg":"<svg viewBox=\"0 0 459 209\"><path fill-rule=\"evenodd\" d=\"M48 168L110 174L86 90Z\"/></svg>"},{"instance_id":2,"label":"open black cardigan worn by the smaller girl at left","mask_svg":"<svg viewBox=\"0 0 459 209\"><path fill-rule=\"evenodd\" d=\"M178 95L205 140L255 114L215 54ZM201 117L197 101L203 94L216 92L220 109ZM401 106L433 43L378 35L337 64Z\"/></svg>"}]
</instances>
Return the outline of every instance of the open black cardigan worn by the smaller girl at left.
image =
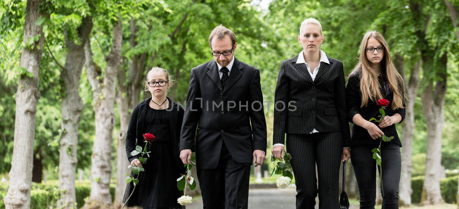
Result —
<instances>
[{"instance_id":1,"label":"open black cardigan worn by the smaller girl at left","mask_svg":"<svg viewBox=\"0 0 459 209\"><path fill-rule=\"evenodd\" d=\"M179 167L181 173L185 173L185 168L182 163L182 160L179 158L179 137L180 130L182 129L183 114L185 112L184 108L177 104L174 100L167 98L169 100L169 107L166 111L170 111L169 114L169 123L171 131L171 143L174 143L174 159ZM135 146L139 145L141 147L145 146L143 139L142 129L145 126L145 115L146 110L150 108L149 102L151 97L143 100L141 103L137 104L132 110L131 119L129 120L128 132L126 134L126 154L128 155L129 162L132 162L134 159L138 159L138 156L132 156L131 152L134 151ZM139 140L140 139L140 140Z\"/></svg>"}]
</instances>

